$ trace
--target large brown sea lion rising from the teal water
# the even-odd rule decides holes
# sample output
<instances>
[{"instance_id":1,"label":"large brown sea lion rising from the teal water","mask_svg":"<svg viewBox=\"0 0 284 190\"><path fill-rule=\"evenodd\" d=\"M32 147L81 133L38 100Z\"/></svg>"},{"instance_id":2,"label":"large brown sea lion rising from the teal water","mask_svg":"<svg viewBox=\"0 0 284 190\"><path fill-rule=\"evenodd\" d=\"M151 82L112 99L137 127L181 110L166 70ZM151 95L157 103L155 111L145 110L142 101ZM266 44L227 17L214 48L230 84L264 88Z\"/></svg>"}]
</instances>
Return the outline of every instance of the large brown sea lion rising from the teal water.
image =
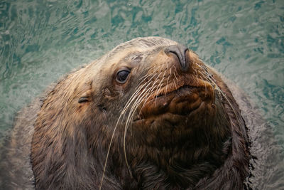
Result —
<instances>
[{"instance_id":1,"label":"large brown sea lion rising from the teal water","mask_svg":"<svg viewBox=\"0 0 284 190\"><path fill-rule=\"evenodd\" d=\"M32 123L36 189L243 189L249 174L229 88L165 38L121 43L70 73Z\"/></svg>"}]
</instances>

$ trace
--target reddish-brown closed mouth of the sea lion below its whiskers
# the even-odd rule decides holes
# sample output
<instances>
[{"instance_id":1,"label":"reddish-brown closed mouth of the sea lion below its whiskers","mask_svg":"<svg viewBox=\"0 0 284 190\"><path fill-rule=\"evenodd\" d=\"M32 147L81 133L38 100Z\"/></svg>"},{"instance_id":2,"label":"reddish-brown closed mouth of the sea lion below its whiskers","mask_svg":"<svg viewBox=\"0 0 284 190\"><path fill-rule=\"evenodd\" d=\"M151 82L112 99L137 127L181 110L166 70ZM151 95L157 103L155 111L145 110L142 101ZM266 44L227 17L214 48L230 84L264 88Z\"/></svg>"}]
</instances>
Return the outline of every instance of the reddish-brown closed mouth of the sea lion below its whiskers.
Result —
<instances>
[{"instance_id":1,"label":"reddish-brown closed mouth of the sea lion below its whiskers","mask_svg":"<svg viewBox=\"0 0 284 190\"><path fill-rule=\"evenodd\" d=\"M165 113L189 115L204 103L214 100L214 90L204 86L182 85L166 93L153 95L140 107L136 120L157 117Z\"/></svg>"}]
</instances>

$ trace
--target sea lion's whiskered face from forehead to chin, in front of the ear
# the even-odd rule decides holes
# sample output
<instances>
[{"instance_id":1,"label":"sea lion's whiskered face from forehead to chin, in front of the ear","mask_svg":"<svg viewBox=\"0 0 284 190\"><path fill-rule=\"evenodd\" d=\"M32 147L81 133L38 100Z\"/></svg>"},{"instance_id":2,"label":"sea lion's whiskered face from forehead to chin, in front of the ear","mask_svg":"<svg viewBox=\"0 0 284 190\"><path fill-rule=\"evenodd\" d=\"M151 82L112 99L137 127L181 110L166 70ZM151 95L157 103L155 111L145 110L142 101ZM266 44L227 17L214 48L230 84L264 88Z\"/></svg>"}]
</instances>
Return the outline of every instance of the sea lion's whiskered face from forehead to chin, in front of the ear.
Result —
<instances>
[{"instance_id":1,"label":"sea lion's whiskered face from forehead to chin, in front of the ear","mask_svg":"<svg viewBox=\"0 0 284 190\"><path fill-rule=\"evenodd\" d=\"M93 69L93 106L109 121L107 128L116 127L115 136L131 133L139 144L164 147L188 141L196 132L226 134L226 127L215 126L223 110L214 78L185 46L165 38L136 38L100 62Z\"/></svg>"}]
</instances>

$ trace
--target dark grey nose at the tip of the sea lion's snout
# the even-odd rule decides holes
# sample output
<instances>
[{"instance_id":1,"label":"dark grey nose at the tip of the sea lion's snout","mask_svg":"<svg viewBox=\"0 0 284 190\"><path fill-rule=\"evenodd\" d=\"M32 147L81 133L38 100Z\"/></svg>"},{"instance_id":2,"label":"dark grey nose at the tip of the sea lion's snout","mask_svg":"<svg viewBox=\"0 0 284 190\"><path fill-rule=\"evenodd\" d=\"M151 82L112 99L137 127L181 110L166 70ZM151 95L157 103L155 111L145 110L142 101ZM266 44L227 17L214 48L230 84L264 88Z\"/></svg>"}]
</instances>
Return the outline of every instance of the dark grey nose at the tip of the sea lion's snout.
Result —
<instances>
[{"instance_id":1,"label":"dark grey nose at the tip of the sea lion's snout","mask_svg":"<svg viewBox=\"0 0 284 190\"><path fill-rule=\"evenodd\" d=\"M173 53L175 54L175 56L178 57L182 71L187 71L187 69L189 68L190 61L187 60L185 56L185 53L187 51L188 48L181 45L173 45L173 46L168 46L168 48L165 48L165 53Z\"/></svg>"}]
</instances>

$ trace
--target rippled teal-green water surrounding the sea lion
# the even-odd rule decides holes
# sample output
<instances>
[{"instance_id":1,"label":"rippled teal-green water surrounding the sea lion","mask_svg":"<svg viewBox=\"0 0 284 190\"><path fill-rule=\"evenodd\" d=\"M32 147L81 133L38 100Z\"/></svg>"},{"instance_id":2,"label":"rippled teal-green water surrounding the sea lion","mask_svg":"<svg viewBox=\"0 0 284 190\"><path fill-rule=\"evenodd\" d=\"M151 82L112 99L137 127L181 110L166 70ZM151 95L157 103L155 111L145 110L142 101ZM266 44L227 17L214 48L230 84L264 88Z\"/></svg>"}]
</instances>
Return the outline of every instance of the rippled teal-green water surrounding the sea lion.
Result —
<instances>
[{"instance_id":1,"label":"rippled teal-green water surrounding the sea lion","mask_svg":"<svg viewBox=\"0 0 284 190\"><path fill-rule=\"evenodd\" d=\"M16 112L50 83L138 36L183 43L239 85L283 152L282 0L2 0L0 138L13 126ZM267 187L279 186L283 178L266 181Z\"/></svg>"}]
</instances>

